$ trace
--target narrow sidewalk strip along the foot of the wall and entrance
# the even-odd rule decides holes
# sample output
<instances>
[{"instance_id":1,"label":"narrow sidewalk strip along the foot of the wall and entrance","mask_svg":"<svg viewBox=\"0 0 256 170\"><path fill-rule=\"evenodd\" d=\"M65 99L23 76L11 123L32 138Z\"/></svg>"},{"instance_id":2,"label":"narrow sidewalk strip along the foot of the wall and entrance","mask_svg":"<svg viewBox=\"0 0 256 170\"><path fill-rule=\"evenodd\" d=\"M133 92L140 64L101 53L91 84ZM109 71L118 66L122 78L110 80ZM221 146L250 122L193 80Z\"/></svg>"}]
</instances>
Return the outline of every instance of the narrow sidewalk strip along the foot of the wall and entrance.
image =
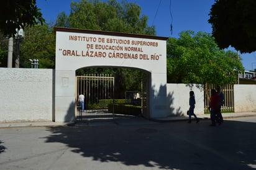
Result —
<instances>
[{"instance_id":1,"label":"narrow sidewalk strip along the foot of the wall and entrance","mask_svg":"<svg viewBox=\"0 0 256 170\"><path fill-rule=\"evenodd\" d=\"M243 113L224 113L222 114L223 119L233 119L238 117L254 117L256 112L243 112ZM209 120L210 114L198 114L197 117L201 120ZM102 120L102 121L88 121L85 123L79 123L80 125L135 125L139 123L160 123L160 122L178 122L188 120L188 115L183 116L173 116L166 118L158 118L147 120L142 117L131 117L126 119L116 118L114 121L111 120ZM0 128L11 128L11 127L62 127L62 126L73 126L75 122L10 122L10 123L0 123Z\"/></svg>"}]
</instances>

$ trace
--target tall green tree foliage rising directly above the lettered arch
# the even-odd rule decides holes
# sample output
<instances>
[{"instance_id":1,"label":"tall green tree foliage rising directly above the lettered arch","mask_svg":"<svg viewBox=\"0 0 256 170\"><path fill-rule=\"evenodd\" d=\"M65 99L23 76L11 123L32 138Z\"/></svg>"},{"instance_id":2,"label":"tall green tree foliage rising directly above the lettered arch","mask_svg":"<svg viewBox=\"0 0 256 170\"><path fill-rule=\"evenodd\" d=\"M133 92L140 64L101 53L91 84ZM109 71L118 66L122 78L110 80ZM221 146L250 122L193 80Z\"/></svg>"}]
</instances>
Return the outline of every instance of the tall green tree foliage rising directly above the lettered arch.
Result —
<instances>
[{"instance_id":1,"label":"tall green tree foliage rising directly above the lettered arch","mask_svg":"<svg viewBox=\"0 0 256 170\"><path fill-rule=\"evenodd\" d=\"M81 0L70 7L70 16L61 12L55 26L155 35L155 26L147 25L148 17L140 16L141 8L133 2Z\"/></svg>"}]
</instances>

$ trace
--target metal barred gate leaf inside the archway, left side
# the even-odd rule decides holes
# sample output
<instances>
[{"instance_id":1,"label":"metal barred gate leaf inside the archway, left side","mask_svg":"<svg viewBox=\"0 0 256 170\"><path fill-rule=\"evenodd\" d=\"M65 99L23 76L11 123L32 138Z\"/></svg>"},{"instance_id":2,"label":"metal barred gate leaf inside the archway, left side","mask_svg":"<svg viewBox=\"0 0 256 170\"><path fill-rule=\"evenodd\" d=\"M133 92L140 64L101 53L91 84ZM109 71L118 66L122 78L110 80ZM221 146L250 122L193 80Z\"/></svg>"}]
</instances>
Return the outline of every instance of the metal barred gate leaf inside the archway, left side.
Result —
<instances>
[{"instance_id":1,"label":"metal barred gate leaf inside the archway, left side","mask_svg":"<svg viewBox=\"0 0 256 170\"><path fill-rule=\"evenodd\" d=\"M76 103L85 95L85 110L76 105L76 120L112 119L107 106L114 101L114 77L108 74L76 76Z\"/></svg>"}]
</instances>

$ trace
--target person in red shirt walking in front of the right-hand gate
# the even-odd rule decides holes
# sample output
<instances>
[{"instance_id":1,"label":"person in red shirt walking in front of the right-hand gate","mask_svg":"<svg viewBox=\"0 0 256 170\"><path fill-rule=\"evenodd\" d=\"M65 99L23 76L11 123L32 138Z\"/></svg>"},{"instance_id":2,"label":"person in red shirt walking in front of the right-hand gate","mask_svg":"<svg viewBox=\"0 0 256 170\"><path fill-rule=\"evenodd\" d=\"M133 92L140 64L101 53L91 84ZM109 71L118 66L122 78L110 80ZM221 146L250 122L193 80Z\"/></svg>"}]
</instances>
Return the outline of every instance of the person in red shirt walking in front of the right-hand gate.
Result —
<instances>
[{"instance_id":1,"label":"person in red shirt walking in front of the right-hand gate","mask_svg":"<svg viewBox=\"0 0 256 170\"><path fill-rule=\"evenodd\" d=\"M211 125L215 127L216 126L216 121L218 123L219 119L217 119L218 114L219 114L219 102L220 102L220 97L215 91L215 89L211 89L211 98L210 98L210 106L209 108L211 109Z\"/></svg>"}]
</instances>

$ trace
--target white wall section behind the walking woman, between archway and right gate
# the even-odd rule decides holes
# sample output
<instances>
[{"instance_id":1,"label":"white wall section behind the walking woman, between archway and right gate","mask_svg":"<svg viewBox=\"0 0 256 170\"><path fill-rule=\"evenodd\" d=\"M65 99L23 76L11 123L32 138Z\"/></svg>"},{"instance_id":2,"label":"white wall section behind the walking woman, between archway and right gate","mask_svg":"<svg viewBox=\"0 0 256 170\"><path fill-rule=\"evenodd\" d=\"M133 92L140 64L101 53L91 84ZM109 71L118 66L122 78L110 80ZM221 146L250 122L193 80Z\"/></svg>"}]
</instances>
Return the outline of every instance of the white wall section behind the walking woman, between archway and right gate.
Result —
<instances>
[{"instance_id":1,"label":"white wall section behind the walking woman, between archway and right gate","mask_svg":"<svg viewBox=\"0 0 256 170\"><path fill-rule=\"evenodd\" d=\"M168 116L186 115L186 111L190 108L189 99L190 91L194 91L196 99L196 107L194 113L196 115L204 114L204 91L200 90L194 84L193 87L186 84L167 84L167 112Z\"/></svg>"}]
</instances>

